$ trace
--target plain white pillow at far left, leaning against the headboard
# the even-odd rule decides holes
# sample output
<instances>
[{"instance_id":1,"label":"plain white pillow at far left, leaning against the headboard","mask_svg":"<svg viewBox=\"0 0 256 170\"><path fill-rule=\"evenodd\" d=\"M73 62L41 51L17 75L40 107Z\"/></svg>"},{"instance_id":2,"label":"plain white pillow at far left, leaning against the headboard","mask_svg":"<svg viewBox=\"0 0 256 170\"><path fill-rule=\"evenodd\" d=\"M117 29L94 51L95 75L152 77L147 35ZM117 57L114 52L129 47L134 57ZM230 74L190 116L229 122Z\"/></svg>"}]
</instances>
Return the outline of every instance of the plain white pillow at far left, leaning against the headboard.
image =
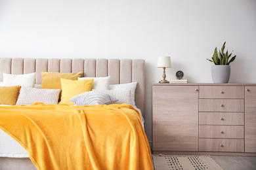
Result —
<instances>
[{"instance_id":1,"label":"plain white pillow at far left, leaning against the headboard","mask_svg":"<svg viewBox=\"0 0 256 170\"><path fill-rule=\"evenodd\" d=\"M3 73L3 86L25 86L33 88L35 86L35 73L24 75Z\"/></svg>"}]
</instances>

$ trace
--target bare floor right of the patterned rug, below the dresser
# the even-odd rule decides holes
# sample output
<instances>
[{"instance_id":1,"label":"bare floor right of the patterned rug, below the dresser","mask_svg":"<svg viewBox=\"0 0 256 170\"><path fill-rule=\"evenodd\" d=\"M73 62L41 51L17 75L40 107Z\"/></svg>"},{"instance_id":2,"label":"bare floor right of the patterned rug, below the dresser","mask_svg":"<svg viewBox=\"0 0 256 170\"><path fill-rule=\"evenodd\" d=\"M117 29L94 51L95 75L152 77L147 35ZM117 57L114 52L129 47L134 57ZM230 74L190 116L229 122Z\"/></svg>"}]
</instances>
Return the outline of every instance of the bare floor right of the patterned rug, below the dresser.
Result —
<instances>
[{"instance_id":1,"label":"bare floor right of the patterned rug, below the dresser","mask_svg":"<svg viewBox=\"0 0 256 170\"><path fill-rule=\"evenodd\" d=\"M253 156L211 156L224 170L256 170Z\"/></svg>"}]
</instances>

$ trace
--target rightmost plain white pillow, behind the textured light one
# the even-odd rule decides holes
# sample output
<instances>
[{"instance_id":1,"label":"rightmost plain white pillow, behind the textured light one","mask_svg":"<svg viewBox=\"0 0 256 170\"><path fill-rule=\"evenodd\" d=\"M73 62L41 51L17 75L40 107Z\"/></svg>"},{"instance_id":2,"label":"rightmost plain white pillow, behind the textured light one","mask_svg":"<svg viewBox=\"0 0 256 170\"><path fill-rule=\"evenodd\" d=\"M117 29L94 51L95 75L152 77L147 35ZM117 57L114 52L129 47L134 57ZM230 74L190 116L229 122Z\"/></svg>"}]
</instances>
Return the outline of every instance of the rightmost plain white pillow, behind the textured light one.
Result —
<instances>
[{"instance_id":1,"label":"rightmost plain white pillow, behind the textured light one","mask_svg":"<svg viewBox=\"0 0 256 170\"><path fill-rule=\"evenodd\" d=\"M135 106L135 90L137 82L130 82L125 84L112 84L109 86L110 90L131 90L131 105Z\"/></svg>"}]
</instances>

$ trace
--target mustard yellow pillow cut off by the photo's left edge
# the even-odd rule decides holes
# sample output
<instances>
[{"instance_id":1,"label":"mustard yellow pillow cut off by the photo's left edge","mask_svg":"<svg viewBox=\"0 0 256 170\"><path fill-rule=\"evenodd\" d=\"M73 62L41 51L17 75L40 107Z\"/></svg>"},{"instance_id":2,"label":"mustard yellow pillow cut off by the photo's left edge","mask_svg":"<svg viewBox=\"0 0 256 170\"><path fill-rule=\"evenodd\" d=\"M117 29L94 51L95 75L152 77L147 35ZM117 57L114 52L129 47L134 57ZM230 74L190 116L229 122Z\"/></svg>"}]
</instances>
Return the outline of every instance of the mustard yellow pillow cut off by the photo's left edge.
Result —
<instances>
[{"instance_id":1,"label":"mustard yellow pillow cut off by the photo's left edge","mask_svg":"<svg viewBox=\"0 0 256 170\"><path fill-rule=\"evenodd\" d=\"M0 105L16 105L20 86L0 86Z\"/></svg>"}]
</instances>

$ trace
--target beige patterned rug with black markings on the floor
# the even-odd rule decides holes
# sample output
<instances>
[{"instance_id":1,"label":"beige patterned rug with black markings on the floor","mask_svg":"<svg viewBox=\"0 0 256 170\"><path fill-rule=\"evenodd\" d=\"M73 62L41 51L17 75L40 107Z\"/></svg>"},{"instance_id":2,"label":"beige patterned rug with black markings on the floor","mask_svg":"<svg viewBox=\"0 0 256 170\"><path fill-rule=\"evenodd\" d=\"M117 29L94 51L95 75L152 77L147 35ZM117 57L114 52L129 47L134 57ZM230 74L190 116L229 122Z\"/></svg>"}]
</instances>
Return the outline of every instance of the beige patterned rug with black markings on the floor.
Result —
<instances>
[{"instance_id":1,"label":"beige patterned rug with black markings on the floor","mask_svg":"<svg viewBox=\"0 0 256 170\"><path fill-rule=\"evenodd\" d=\"M188 156L188 155L152 155L155 170L223 170L211 156Z\"/></svg>"}]
</instances>

